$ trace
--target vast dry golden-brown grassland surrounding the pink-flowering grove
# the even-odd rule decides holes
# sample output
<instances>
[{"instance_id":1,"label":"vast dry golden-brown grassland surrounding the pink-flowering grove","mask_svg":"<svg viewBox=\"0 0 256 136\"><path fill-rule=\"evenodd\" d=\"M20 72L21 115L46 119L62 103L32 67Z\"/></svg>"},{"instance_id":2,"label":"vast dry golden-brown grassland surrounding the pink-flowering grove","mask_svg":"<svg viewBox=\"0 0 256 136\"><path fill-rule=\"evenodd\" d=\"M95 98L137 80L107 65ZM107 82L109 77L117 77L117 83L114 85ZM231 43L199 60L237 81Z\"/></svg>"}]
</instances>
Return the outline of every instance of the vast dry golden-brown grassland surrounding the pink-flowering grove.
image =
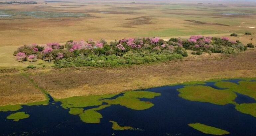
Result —
<instances>
[{"instance_id":1,"label":"vast dry golden-brown grassland surrounding the pink-flowering grove","mask_svg":"<svg viewBox=\"0 0 256 136\"><path fill-rule=\"evenodd\" d=\"M0 0L3 1L3 0ZM233 55L191 55L181 61L117 68L55 69L39 60L18 62L14 50L24 44L127 37L188 38L203 34L256 44L256 2L236 1L76 1L36 5L0 4L0 105L42 101L28 72L54 98L119 93L195 80L256 77L256 50ZM11 16L1 16L2 14ZM251 28L249 28L251 27ZM252 35L244 35L251 32ZM237 33L238 37L230 37ZM188 51L190 52L190 51ZM28 65L36 70L24 70ZM46 68L41 68L46 65Z\"/></svg>"}]
</instances>

